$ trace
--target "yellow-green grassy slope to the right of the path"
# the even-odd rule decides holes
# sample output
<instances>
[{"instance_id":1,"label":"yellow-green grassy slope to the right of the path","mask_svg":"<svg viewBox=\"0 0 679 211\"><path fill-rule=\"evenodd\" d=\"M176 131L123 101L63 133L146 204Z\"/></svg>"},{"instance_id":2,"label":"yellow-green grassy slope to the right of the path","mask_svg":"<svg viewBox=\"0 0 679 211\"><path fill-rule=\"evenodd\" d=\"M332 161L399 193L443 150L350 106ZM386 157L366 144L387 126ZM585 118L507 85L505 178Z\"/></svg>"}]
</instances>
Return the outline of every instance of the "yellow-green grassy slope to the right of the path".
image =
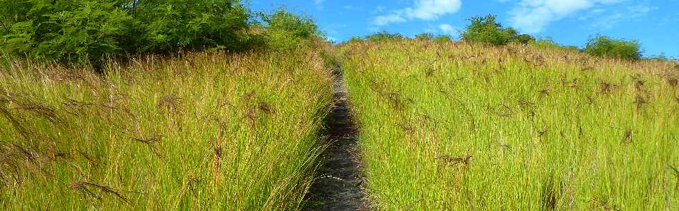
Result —
<instances>
[{"instance_id":1,"label":"yellow-green grassy slope to the right of the path","mask_svg":"<svg viewBox=\"0 0 679 211\"><path fill-rule=\"evenodd\" d=\"M679 76L527 46L342 47L382 210L678 210Z\"/></svg>"}]
</instances>

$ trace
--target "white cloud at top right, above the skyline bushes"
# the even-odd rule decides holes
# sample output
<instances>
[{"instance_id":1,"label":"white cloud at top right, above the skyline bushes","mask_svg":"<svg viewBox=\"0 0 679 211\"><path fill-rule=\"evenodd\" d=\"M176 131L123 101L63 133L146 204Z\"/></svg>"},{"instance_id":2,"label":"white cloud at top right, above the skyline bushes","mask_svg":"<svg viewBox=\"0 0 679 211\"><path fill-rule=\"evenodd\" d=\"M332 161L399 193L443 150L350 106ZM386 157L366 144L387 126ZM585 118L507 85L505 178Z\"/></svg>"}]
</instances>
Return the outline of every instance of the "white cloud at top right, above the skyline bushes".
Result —
<instances>
[{"instance_id":1,"label":"white cloud at top right, above the skyline bushes","mask_svg":"<svg viewBox=\"0 0 679 211\"><path fill-rule=\"evenodd\" d=\"M521 0L509 13L511 26L525 33L539 33L552 21L598 5L622 0Z\"/></svg>"}]
</instances>

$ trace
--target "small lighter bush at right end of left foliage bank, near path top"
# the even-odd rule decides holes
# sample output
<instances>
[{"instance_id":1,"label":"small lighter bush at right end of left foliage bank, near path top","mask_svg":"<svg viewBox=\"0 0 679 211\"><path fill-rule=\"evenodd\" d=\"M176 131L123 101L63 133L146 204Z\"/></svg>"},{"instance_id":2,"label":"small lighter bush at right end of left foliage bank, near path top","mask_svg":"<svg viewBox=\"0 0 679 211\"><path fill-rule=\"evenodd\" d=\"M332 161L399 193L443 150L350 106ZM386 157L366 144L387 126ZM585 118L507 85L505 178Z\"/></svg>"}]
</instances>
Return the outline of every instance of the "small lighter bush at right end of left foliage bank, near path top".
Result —
<instances>
[{"instance_id":1,"label":"small lighter bush at right end of left foliage bank, near path top","mask_svg":"<svg viewBox=\"0 0 679 211\"><path fill-rule=\"evenodd\" d=\"M318 26L309 17L299 17L279 8L269 15L262 15L267 44L272 48L290 51L311 37L322 37Z\"/></svg>"}]
</instances>

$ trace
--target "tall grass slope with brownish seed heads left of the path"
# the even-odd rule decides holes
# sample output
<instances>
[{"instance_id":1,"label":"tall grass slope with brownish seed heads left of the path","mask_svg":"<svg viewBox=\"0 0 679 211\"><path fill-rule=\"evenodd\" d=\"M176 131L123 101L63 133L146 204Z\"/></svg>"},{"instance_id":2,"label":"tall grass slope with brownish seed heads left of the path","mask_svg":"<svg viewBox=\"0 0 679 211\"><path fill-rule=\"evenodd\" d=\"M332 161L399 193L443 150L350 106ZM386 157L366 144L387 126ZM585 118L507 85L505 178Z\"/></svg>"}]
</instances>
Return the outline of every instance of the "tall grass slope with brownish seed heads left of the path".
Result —
<instances>
[{"instance_id":1,"label":"tall grass slope with brownish seed heads left of the path","mask_svg":"<svg viewBox=\"0 0 679 211\"><path fill-rule=\"evenodd\" d=\"M330 104L317 53L193 54L103 78L5 61L0 210L296 210Z\"/></svg>"}]
</instances>

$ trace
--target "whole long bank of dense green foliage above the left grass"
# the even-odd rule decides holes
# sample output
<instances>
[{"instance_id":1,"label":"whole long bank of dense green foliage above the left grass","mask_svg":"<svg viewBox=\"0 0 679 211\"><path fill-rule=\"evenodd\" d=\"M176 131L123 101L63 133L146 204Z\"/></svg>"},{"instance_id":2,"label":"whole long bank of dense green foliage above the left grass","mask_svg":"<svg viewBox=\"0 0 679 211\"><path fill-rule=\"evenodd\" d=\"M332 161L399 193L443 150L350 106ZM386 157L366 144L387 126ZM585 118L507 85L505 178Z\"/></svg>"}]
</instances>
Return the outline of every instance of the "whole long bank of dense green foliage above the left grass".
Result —
<instances>
[{"instance_id":1,"label":"whole long bank of dense green foliage above the left grass","mask_svg":"<svg viewBox=\"0 0 679 211\"><path fill-rule=\"evenodd\" d=\"M17 0L0 1L0 12L0 50L98 67L109 56L292 48L320 35L283 9L262 15L264 33L253 33L262 24L238 0Z\"/></svg>"}]
</instances>

